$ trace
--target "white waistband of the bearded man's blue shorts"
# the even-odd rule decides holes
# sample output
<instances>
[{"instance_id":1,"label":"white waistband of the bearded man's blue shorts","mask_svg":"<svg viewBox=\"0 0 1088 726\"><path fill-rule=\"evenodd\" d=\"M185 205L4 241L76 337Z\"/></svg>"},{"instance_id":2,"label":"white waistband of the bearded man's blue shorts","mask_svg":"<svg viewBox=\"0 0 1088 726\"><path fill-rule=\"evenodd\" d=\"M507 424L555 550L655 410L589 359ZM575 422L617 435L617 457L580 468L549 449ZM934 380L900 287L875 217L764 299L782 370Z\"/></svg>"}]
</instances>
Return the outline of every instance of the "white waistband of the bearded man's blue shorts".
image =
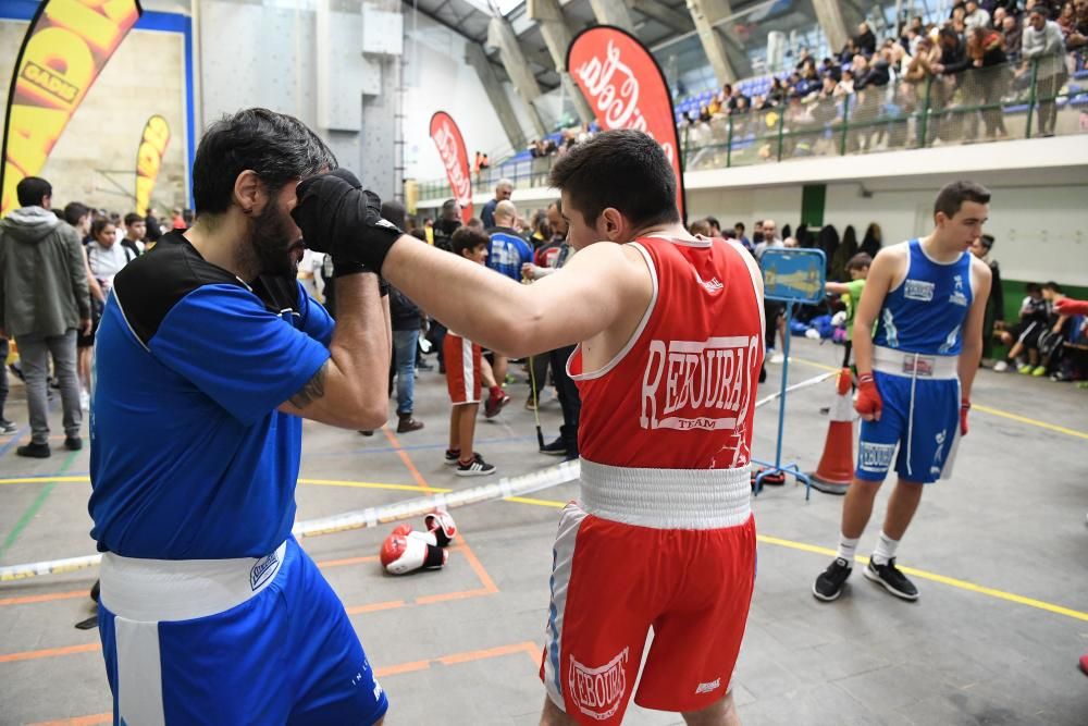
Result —
<instances>
[{"instance_id":1,"label":"white waistband of the bearded man's blue shorts","mask_svg":"<svg viewBox=\"0 0 1088 726\"><path fill-rule=\"evenodd\" d=\"M138 622L191 620L231 610L275 579L285 541L264 557L238 559L139 559L102 555L102 604Z\"/></svg>"}]
</instances>

